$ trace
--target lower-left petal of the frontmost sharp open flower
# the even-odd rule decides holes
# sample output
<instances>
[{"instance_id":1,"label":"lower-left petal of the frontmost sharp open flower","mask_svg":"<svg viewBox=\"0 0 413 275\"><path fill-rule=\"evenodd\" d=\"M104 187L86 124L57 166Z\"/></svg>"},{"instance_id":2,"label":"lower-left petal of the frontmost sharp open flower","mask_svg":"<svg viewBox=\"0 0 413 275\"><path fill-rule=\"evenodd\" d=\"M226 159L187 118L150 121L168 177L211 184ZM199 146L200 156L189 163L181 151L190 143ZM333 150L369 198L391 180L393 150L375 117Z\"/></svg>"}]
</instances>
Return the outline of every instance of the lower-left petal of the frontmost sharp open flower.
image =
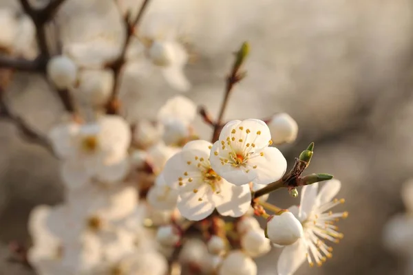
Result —
<instances>
[{"instance_id":1,"label":"lower-left petal of the frontmost sharp open flower","mask_svg":"<svg viewBox=\"0 0 413 275\"><path fill-rule=\"evenodd\" d=\"M255 179L256 177L255 173L246 173L246 169L244 167L233 167L228 163L222 164L220 157L228 157L228 153L226 153L227 151L225 150L226 149L222 150L219 141L213 144L211 155L209 157L213 170L218 175L226 179L226 181L229 181L231 182L231 184L238 186L249 184L251 181L253 181L253 179ZM215 152L217 152L218 155L215 155Z\"/></svg>"}]
</instances>

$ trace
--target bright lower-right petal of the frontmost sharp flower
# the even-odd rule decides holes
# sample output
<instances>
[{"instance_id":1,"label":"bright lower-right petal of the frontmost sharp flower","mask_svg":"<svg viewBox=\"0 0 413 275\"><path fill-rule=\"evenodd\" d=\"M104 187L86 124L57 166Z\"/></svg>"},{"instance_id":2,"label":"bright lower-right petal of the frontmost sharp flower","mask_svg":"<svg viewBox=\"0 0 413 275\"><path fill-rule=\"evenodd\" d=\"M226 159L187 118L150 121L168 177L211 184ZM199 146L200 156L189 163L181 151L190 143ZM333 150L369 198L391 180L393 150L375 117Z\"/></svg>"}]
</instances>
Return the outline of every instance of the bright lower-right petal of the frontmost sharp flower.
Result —
<instances>
[{"instance_id":1,"label":"bright lower-right petal of the frontmost sharp flower","mask_svg":"<svg viewBox=\"0 0 413 275\"><path fill-rule=\"evenodd\" d=\"M255 184L271 184L280 179L287 170L287 161L284 155L275 147L266 147L262 151L263 156L258 155L248 159L250 173L255 173ZM253 168L257 166L256 168Z\"/></svg>"}]
</instances>

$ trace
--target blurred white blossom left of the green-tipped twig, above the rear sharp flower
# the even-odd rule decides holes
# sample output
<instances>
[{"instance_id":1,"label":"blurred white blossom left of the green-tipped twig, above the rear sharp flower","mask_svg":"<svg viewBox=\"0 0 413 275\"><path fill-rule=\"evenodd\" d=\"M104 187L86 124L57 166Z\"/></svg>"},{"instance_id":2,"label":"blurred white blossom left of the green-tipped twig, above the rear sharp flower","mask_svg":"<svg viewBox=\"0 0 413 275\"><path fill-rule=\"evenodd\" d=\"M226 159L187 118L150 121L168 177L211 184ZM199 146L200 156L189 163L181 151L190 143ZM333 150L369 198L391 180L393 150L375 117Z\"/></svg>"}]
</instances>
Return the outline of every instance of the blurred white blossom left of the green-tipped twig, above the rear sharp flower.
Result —
<instances>
[{"instance_id":1,"label":"blurred white blossom left of the green-tipped twig, above the rear sharp flower","mask_svg":"<svg viewBox=\"0 0 413 275\"><path fill-rule=\"evenodd\" d=\"M189 137L190 126L196 115L196 105L184 96L175 96L158 111L162 125L162 138L166 144L180 144Z\"/></svg>"}]
</instances>

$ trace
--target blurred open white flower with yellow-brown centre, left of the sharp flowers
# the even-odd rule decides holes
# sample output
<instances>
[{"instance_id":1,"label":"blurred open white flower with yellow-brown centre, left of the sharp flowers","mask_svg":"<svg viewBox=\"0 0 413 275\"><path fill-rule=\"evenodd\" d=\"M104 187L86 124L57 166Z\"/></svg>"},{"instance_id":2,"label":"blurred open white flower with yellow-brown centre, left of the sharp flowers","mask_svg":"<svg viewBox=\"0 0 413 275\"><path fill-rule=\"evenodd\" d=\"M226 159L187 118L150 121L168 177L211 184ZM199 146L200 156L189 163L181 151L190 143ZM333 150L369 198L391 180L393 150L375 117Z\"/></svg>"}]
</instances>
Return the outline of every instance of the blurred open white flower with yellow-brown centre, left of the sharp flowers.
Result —
<instances>
[{"instance_id":1,"label":"blurred open white flower with yellow-brown centre, left of the sharp flowers","mask_svg":"<svg viewBox=\"0 0 413 275\"><path fill-rule=\"evenodd\" d=\"M129 125L116 115L105 115L87 124L68 123L50 132L54 151L63 158L62 177L69 188L90 179L116 183L129 170Z\"/></svg>"}]
</instances>

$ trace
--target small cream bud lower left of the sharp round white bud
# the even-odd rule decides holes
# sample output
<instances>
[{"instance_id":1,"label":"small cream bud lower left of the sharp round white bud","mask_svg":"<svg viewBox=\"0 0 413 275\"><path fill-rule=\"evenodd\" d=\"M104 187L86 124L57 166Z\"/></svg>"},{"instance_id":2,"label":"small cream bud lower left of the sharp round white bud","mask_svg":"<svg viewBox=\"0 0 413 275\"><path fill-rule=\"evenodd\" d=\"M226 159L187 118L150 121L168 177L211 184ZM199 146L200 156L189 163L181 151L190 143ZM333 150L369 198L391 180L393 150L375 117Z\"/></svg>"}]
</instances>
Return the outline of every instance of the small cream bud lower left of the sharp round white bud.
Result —
<instances>
[{"instance_id":1,"label":"small cream bud lower left of the sharp round white bud","mask_svg":"<svg viewBox=\"0 0 413 275\"><path fill-rule=\"evenodd\" d=\"M270 240L261 228L246 232L241 237L241 247L251 257L262 256L271 250Z\"/></svg>"}]
</instances>

